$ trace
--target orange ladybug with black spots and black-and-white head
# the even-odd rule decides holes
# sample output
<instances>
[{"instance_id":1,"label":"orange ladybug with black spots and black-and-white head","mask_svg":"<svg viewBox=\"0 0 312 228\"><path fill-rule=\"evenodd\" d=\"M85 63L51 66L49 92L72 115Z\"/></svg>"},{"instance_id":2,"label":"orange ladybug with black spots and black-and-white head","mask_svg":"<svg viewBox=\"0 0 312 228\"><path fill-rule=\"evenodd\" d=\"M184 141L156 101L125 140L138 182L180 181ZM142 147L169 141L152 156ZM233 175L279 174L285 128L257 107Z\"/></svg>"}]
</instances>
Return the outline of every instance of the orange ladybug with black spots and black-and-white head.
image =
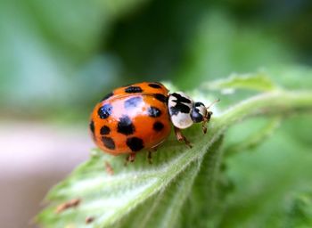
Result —
<instances>
[{"instance_id":1,"label":"orange ladybug with black spots and black-and-white head","mask_svg":"<svg viewBox=\"0 0 312 228\"><path fill-rule=\"evenodd\" d=\"M168 93L158 82L143 82L119 87L103 97L91 114L90 130L94 142L112 155L128 154L127 161L135 160L135 153L147 149L151 161L152 151L164 142L174 126L178 141L191 143L181 129L206 123L212 112L202 102L182 92Z\"/></svg>"}]
</instances>

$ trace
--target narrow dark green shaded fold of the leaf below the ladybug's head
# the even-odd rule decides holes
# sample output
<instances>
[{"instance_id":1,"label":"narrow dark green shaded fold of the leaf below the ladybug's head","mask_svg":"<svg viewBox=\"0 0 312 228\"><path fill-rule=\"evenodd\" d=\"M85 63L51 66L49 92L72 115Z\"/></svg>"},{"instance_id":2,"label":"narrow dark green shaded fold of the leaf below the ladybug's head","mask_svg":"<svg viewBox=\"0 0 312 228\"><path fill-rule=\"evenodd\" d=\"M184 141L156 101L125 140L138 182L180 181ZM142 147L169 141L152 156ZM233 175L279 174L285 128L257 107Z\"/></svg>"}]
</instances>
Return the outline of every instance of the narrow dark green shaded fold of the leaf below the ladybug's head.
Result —
<instances>
[{"instance_id":1,"label":"narrow dark green shaded fold of the leaf below the ladybug's head","mask_svg":"<svg viewBox=\"0 0 312 228\"><path fill-rule=\"evenodd\" d=\"M201 162L201 171L196 176L193 189L183 208L181 227L215 226L215 216L220 210L220 165L223 156L223 136L209 149ZM217 214L218 215L218 214ZM201 218L201 219L199 219ZM213 227L212 226L212 227Z\"/></svg>"}]
</instances>

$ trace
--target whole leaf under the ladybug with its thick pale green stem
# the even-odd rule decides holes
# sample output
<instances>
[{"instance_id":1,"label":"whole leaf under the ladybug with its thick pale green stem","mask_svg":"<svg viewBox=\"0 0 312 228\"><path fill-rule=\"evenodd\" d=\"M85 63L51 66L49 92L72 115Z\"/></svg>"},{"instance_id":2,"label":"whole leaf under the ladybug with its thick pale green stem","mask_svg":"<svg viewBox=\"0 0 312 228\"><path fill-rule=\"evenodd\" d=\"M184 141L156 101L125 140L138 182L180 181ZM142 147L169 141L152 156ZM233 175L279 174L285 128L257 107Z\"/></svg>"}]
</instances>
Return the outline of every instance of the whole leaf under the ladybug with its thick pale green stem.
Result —
<instances>
[{"instance_id":1,"label":"whole leaf under the ladybug with its thick pale green stem","mask_svg":"<svg viewBox=\"0 0 312 228\"><path fill-rule=\"evenodd\" d=\"M186 227L201 219L199 227L214 226L222 219L220 206L226 206L221 201L226 193L221 191L220 173L226 129L245 118L311 110L312 92L277 90L215 115L208 134L202 134L200 126L186 130L192 149L171 136L154 153L152 165L144 152L125 167L124 159L94 151L91 159L50 191L46 198L50 204L37 221L43 227L85 227L86 220L92 220L88 224L92 227ZM106 171L107 163L114 175ZM60 205L75 199L78 205L60 210Z\"/></svg>"}]
</instances>

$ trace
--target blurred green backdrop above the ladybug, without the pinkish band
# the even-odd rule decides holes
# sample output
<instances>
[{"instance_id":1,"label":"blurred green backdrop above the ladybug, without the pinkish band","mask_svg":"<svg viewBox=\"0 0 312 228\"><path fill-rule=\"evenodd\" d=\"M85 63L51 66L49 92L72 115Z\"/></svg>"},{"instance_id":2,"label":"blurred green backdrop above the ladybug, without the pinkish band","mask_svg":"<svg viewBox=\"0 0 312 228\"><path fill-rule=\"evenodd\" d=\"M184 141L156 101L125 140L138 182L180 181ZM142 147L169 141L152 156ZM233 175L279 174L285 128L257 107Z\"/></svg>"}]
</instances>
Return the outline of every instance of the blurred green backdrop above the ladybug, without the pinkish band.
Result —
<instances>
[{"instance_id":1,"label":"blurred green backdrop above the ladybug, without the pinkish band","mask_svg":"<svg viewBox=\"0 0 312 228\"><path fill-rule=\"evenodd\" d=\"M112 87L183 89L232 72L312 63L312 3L1 1L3 118L86 119Z\"/></svg>"}]
</instances>

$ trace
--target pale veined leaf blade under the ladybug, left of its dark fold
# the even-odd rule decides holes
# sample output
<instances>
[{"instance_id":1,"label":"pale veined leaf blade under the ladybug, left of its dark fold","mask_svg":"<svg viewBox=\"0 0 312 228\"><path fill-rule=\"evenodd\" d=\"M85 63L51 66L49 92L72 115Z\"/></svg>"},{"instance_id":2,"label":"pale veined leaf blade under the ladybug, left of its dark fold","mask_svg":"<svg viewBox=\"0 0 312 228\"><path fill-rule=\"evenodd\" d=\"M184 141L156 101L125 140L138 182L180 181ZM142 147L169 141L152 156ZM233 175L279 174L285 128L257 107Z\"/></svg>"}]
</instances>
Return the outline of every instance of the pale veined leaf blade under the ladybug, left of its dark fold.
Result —
<instances>
[{"instance_id":1,"label":"pale veined leaf blade under the ladybug, left of its dark fold","mask_svg":"<svg viewBox=\"0 0 312 228\"><path fill-rule=\"evenodd\" d=\"M152 166L144 164L147 163L142 156L144 154L135 160L135 164L140 166L124 167L123 159L111 159L109 155L96 153L85 165L70 175L69 179L50 192L47 199L53 200L54 203L38 216L39 222L45 224L45 227L64 227L70 224L83 226L86 224L86 218L91 216L94 217L94 227L107 227L114 225L145 200L155 197L150 204L152 208L157 209L157 213L160 209L158 200L168 198L166 207L169 201L170 205L175 206L175 209L168 208L172 210L168 214L170 215L168 221L160 219L161 223L175 224L177 221L173 219L173 213L178 212L176 208L182 207L183 199L187 197L192 187L190 183L199 171L202 156L213 142L206 142L205 137L198 140L189 138L194 143L192 149L185 150L185 145L170 146L166 143L157 152ZM109 161L114 168L113 176L106 173L105 161ZM175 199L170 196L170 188L175 189L177 186L179 188L176 190L177 199ZM62 213L55 213L60 204L70 199L81 200L77 209L70 208ZM151 210L150 213L155 212ZM144 223L148 223L149 218L146 217L145 210L143 216L146 219ZM142 223L142 220L133 223L133 227L137 227L135 224ZM128 221L126 224L129 227Z\"/></svg>"}]
</instances>

